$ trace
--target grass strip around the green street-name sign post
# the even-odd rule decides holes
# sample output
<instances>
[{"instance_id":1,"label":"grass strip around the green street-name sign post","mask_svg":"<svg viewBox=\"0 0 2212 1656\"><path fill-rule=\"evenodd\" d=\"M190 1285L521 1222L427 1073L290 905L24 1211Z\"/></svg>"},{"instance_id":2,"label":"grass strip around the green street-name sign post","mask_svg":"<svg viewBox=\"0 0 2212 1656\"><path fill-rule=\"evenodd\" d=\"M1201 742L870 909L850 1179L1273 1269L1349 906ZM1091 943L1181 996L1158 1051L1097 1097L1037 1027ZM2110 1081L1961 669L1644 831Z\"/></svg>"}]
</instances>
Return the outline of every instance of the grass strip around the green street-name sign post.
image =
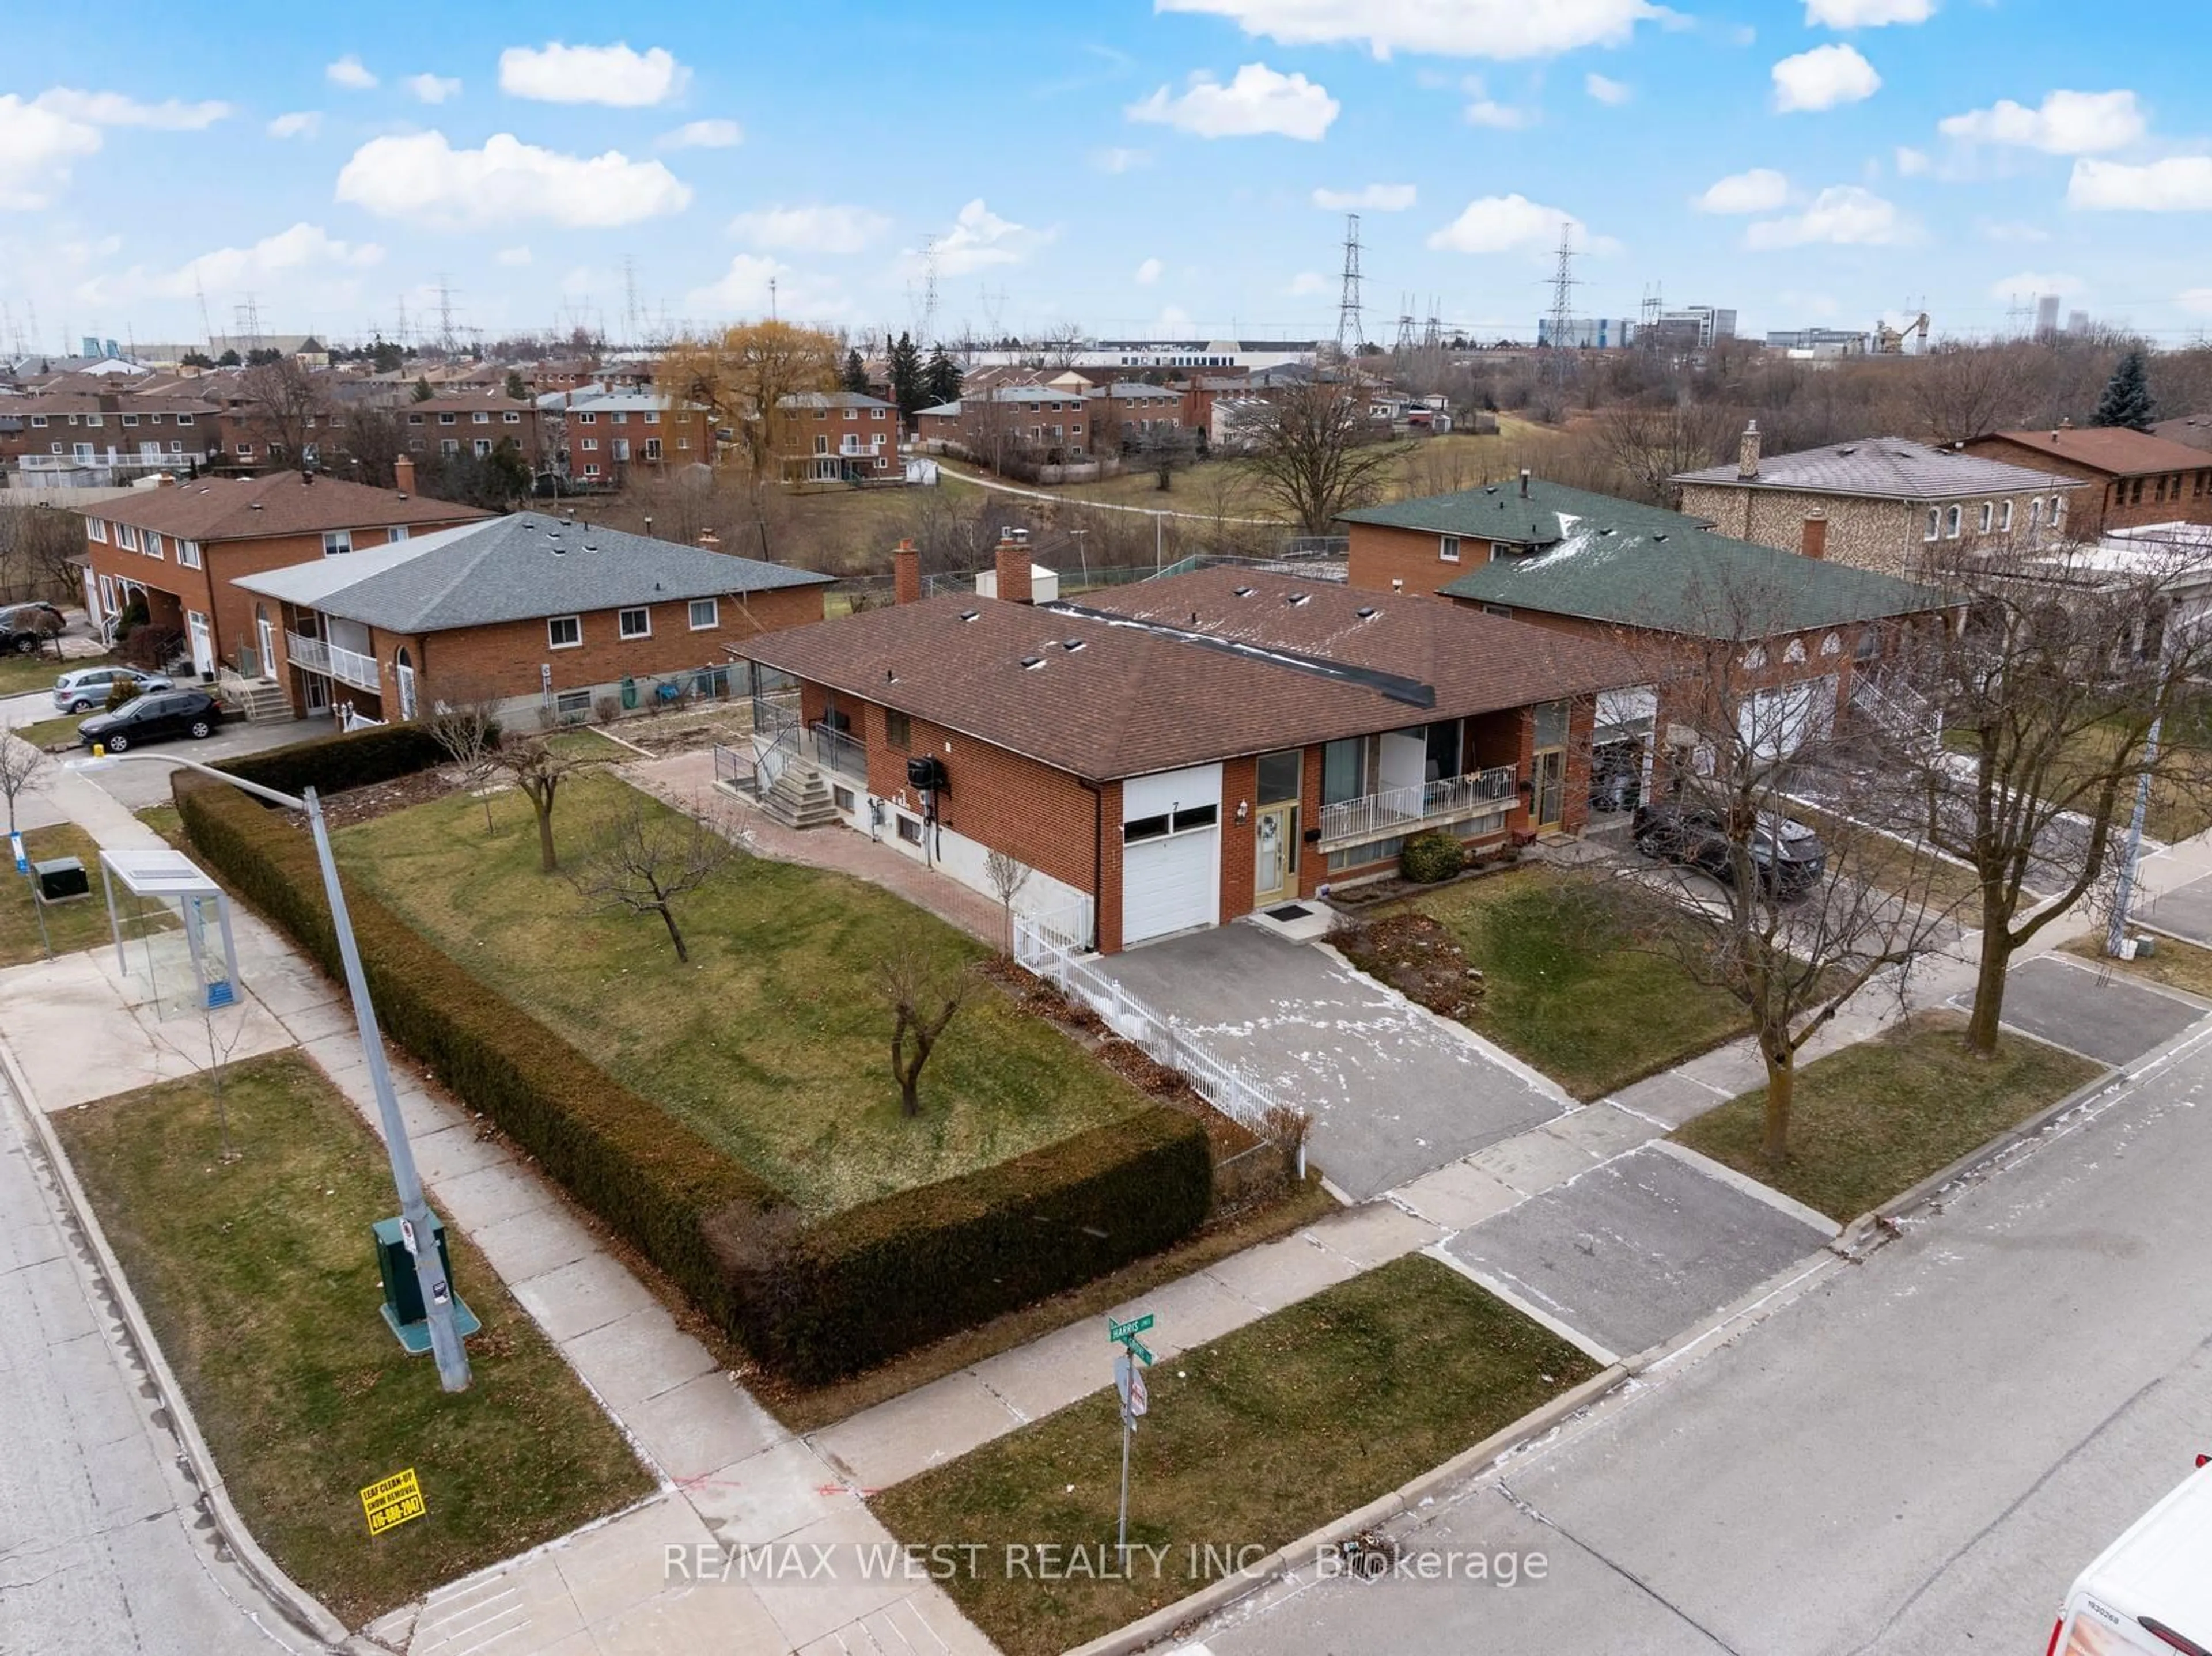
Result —
<instances>
[{"instance_id":1,"label":"grass strip around the green street-name sign post","mask_svg":"<svg viewBox=\"0 0 2212 1656\"><path fill-rule=\"evenodd\" d=\"M1108 1355L1102 1338L1102 1371ZM1139 1422L1128 1477L1130 1579L1022 1576L1040 1543L1060 1545L1062 1559L1071 1548L1115 1559L1113 1393L898 1484L872 1506L902 1541L975 1545L949 1554L975 1570L962 1565L945 1587L1009 1656L1046 1656L1197 1592L1208 1581L1203 1548L1263 1559L1595 1371L1575 1346L1413 1254L1150 1371L1152 1413Z\"/></svg>"}]
</instances>

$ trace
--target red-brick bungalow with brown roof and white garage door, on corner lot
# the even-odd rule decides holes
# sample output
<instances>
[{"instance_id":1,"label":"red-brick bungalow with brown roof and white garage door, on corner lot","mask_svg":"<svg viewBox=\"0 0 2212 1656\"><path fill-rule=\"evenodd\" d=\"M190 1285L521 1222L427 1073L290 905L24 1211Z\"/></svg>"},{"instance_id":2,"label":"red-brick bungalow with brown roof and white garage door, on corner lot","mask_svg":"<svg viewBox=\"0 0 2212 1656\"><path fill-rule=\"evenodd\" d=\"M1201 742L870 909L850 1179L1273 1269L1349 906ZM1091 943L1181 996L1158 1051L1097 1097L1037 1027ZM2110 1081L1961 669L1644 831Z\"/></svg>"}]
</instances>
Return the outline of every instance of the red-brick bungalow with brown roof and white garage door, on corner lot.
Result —
<instances>
[{"instance_id":1,"label":"red-brick bungalow with brown roof and white garage door, on corner lot","mask_svg":"<svg viewBox=\"0 0 2212 1656\"><path fill-rule=\"evenodd\" d=\"M991 891L1104 953L1389 873L1407 836L1484 847L1584 825L1613 646L1431 597L1212 568L1084 604L922 599L763 635L732 654L796 681L754 736L772 798ZM799 778L794 783L794 778Z\"/></svg>"}]
</instances>

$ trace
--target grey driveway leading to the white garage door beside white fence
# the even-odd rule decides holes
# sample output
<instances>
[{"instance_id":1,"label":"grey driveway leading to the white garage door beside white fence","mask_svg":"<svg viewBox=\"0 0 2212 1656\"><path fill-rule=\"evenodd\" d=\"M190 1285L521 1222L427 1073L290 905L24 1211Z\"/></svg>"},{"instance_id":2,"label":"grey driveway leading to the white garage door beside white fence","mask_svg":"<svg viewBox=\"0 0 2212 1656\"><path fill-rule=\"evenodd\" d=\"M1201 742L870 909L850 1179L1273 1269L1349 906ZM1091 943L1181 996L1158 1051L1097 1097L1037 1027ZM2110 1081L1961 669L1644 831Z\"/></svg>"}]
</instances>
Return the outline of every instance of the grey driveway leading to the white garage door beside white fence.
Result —
<instances>
[{"instance_id":1,"label":"grey driveway leading to the white garage door beside white fence","mask_svg":"<svg viewBox=\"0 0 2212 1656\"><path fill-rule=\"evenodd\" d=\"M1571 1108L1551 1081L1314 944L1217 926L1095 966L1314 1117L1312 1156L1354 1201Z\"/></svg>"}]
</instances>

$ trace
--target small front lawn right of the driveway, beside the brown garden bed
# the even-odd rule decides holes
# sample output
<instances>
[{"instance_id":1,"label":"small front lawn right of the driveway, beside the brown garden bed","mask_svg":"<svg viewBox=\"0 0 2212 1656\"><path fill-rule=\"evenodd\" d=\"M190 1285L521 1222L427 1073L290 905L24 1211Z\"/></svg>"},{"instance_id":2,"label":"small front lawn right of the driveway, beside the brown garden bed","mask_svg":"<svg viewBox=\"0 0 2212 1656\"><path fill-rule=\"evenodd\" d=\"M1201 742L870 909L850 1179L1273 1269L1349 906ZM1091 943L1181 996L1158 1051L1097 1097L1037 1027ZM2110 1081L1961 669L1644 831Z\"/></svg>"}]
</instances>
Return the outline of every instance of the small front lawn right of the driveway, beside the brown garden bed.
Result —
<instances>
[{"instance_id":1,"label":"small front lawn right of the driveway, beside the brown garden bed","mask_svg":"<svg viewBox=\"0 0 2212 1656\"><path fill-rule=\"evenodd\" d=\"M1579 880L1513 869L1411 906L1440 920L1484 975L1467 1026L1577 1099L1601 1099L1747 1028L1725 991L1626 948Z\"/></svg>"}]
</instances>

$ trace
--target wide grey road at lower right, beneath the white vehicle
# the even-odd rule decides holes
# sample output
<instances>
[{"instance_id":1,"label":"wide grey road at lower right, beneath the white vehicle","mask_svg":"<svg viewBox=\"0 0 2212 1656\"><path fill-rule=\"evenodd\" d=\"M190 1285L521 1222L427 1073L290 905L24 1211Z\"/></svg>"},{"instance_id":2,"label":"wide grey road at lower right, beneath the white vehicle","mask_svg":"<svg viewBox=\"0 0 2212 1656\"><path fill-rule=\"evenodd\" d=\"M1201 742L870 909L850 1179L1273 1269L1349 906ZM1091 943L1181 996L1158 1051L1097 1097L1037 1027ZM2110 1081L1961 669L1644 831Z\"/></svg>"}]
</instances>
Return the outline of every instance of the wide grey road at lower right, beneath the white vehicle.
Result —
<instances>
[{"instance_id":1,"label":"wide grey road at lower right, beneath the white vehicle","mask_svg":"<svg viewBox=\"0 0 2212 1656\"><path fill-rule=\"evenodd\" d=\"M2073 1576L2212 1450L2208 1081L2212 1030L1400 1532L1458 1581L1307 1570L1197 1647L2039 1652ZM1546 1576L1495 1585L1500 1552Z\"/></svg>"}]
</instances>

